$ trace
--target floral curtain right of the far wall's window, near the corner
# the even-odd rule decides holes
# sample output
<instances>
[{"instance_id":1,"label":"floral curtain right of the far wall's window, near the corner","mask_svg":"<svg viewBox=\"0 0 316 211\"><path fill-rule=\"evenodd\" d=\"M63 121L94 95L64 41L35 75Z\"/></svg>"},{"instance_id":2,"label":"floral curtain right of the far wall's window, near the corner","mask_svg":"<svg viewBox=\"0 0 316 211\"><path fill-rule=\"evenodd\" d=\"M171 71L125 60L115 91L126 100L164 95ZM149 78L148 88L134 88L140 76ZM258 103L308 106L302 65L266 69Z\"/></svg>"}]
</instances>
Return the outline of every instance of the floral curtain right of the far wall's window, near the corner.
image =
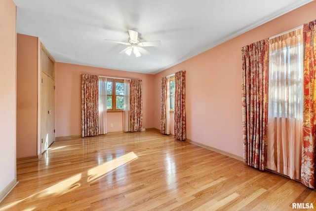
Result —
<instances>
[{"instance_id":1,"label":"floral curtain right of the far wall's window, near the corner","mask_svg":"<svg viewBox=\"0 0 316 211\"><path fill-rule=\"evenodd\" d=\"M129 131L138 132L143 127L142 80L131 79L129 100Z\"/></svg>"}]
</instances>

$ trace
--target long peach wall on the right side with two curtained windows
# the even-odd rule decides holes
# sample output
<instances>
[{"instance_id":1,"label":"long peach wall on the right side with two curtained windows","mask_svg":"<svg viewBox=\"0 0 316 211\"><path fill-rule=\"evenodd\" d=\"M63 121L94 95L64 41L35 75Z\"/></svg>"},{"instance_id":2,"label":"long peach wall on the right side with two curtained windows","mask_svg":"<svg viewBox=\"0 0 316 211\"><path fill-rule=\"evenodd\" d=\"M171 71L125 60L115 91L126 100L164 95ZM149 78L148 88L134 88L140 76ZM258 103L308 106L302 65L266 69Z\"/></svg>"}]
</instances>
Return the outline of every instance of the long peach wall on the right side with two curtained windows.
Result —
<instances>
[{"instance_id":1,"label":"long peach wall on the right side with two curtained windows","mask_svg":"<svg viewBox=\"0 0 316 211\"><path fill-rule=\"evenodd\" d=\"M187 138L243 155L241 47L316 19L316 1L284 14L155 75L155 128L160 128L160 78L186 70Z\"/></svg>"}]
</instances>

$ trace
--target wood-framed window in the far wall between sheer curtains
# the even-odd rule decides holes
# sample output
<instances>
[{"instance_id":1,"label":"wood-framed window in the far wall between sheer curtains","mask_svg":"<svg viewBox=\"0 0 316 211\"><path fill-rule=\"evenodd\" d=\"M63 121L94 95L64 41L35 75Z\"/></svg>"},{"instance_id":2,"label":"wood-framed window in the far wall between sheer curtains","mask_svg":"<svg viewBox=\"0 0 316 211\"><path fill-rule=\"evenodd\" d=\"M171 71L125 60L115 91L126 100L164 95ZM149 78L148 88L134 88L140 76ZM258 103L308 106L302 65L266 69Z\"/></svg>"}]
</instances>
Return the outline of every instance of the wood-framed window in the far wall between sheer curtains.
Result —
<instances>
[{"instance_id":1,"label":"wood-framed window in the far wall between sheer curtains","mask_svg":"<svg viewBox=\"0 0 316 211\"><path fill-rule=\"evenodd\" d=\"M108 79L107 81L107 109L108 111L122 111L124 107L124 81Z\"/></svg>"}]
</instances>

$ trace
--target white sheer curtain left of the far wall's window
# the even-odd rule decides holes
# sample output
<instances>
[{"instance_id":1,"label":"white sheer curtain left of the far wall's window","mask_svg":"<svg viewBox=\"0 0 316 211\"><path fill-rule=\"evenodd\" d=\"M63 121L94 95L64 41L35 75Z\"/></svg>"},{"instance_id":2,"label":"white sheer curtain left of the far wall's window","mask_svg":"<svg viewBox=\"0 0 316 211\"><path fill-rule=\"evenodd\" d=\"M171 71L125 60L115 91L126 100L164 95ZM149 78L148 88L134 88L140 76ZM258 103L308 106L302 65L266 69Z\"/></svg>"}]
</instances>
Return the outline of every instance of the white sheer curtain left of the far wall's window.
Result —
<instances>
[{"instance_id":1,"label":"white sheer curtain left of the far wall's window","mask_svg":"<svg viewBox=\"0 0 316 211\"><path fill-rule=\"evenodd\" d=\"M99 76L99 134L107 133L107 78Z\"/></svg>"}]
</instances>

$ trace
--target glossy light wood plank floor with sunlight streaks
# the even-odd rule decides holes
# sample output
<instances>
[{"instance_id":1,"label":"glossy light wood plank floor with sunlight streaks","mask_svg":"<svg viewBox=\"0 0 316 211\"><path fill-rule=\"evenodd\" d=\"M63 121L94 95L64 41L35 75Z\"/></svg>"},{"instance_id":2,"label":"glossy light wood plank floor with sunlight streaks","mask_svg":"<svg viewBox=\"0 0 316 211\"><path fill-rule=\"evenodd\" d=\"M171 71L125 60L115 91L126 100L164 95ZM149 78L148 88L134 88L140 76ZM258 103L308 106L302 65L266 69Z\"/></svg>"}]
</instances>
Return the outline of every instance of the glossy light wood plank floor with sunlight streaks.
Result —
<instances>
[{"instance_id":1,"label":"glossy light wood plank floor with sunlight streaks","mask_svg":"<svg viewBox=\"0 0 316 211\"><path fill-rule=\"evenodd\" d=\"M241 144L241 143L240 143ZM300 182L155 130L54 142L17 164L0 210L292 210L314 203Z\"/></svg>"}]
</instances>

